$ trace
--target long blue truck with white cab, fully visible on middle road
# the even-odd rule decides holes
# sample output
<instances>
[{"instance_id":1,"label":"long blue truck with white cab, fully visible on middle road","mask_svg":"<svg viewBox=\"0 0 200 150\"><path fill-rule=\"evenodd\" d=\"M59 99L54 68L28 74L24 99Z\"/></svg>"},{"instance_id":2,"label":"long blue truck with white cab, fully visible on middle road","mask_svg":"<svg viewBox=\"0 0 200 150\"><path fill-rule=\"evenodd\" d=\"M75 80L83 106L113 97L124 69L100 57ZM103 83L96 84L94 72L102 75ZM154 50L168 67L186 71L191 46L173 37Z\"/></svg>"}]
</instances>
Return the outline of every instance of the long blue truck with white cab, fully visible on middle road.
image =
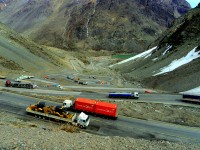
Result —
<instances>
[{"instance_id":1,"label":"long blue truck with white cab, fully visible on middle road","mask_svg":"<svg viewBox=\"0 0 200 150\"><path fill-rule=\"evenodd\" d=\"M116 92L110 92L108 95L109 98L134 98L138 99L139 98L139 93L138 92L133 92L133 93L116 93Z\"/></svg>"}]
</instances>

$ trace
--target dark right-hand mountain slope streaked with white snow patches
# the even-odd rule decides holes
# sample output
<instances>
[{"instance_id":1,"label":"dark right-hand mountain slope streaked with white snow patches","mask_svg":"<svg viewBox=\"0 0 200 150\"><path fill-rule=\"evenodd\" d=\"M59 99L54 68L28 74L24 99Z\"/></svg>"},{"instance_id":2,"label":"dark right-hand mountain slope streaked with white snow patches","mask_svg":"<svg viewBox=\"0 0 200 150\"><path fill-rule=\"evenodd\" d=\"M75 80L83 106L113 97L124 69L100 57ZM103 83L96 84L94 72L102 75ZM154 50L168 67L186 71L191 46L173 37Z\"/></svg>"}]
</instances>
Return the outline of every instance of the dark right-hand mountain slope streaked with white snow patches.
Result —
<instances>
[{"instance_id":1,"label":"dark right-hand mountain slope streaked with white snow patches","mask_svg":"<svg viewBox=\"0 0 200 150\"><path fill-rule=\"evenodd\" d=\"M200 82L200 4L158 38L152 50L115 65L129 80L153 88L185 91Z\"/></svg>"}]
</instances>

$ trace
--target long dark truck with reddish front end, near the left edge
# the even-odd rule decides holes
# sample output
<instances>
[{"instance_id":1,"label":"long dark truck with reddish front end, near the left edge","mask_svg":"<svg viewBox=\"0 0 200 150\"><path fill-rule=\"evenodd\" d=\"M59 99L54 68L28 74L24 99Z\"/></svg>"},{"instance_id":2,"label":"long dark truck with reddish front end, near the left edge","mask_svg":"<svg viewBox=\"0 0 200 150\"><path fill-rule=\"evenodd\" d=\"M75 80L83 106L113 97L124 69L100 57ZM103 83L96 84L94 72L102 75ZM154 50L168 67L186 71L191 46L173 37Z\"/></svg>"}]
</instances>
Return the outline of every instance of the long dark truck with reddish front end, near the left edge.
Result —
<instances>
[{"instance_id":1,"label":"long dark truck with reddish front end, near the left edge","mask_svg":"<svg viewBox=\"0 0 200 150\"><path fill-rule=\"evenodd\" d=\"M10 80L6 81L5 86L16 87L16 88L27 88L27 89L34 89L37 87L37 85L32 83L11 82Z\"/></svg>"}]
</instances>

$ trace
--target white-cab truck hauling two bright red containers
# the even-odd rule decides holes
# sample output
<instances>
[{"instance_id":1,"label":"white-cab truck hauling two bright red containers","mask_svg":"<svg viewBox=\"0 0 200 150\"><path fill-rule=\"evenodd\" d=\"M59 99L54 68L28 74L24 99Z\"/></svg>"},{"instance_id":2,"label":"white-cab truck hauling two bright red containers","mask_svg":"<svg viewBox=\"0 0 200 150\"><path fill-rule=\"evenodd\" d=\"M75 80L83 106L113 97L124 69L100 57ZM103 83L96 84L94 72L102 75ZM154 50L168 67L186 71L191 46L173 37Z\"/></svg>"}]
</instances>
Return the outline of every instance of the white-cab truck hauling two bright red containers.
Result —
<instances>
[{"instance_id":1,"label":"white-cab truck hauling two bright red containers","mask_svg":"<svg viewBox=\"0 0 200 150\"><path fill-rule=\"evenodd\" d=\"M91 114L117 119L117 104L101 102L88 98L77 98L74 102L65 100L63 102L65 109L74 111L89 112Z\"/></svg>"}]
</instances>

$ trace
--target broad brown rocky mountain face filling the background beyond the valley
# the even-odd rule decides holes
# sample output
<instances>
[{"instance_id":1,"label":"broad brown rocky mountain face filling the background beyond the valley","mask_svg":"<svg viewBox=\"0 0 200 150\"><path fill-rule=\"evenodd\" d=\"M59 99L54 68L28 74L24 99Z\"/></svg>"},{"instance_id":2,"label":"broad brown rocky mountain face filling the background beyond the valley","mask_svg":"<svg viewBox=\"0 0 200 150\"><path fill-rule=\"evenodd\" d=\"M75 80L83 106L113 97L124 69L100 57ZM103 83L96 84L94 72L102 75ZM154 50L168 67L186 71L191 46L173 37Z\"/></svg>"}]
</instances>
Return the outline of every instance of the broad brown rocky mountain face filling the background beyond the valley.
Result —
<instances>
[{"instance_id":1,"label":"broad brown rocky mountain face filling the background beyond the valley","mask_svg":"<svg viewBox=\"0 0 200 150\"><path fill-rule=\"evenodd\" d=\"M40 44L141 52L190 9L185 0L9 0L0 20Z\"/></svg>"}]
</instances>

